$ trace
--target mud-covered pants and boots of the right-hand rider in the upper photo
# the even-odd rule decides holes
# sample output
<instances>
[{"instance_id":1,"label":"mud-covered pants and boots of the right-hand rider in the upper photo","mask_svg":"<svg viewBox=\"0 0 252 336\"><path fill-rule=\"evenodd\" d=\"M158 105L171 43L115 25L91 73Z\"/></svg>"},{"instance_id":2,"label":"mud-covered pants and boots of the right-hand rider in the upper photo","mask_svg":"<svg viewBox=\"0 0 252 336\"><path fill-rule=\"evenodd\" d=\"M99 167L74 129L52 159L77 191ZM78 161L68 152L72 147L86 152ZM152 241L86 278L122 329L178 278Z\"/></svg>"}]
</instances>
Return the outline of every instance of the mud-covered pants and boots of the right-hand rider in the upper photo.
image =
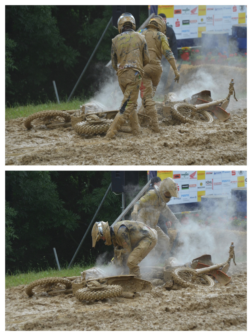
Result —
<instances>
[{"instance_id":1,"label":"mud-covered pants and boots of the right-hand rider in the upper photo","mask_svg":"<svg viewBox=\"0 0 252 336\"><path fill-rule=\"evenodd\" d=\"M140 86L140 96L142 99L142 106L145 109L146 115L151 118L151 129L154 132L159 132L158 114L155 101L155 95L158 83L162 75L161 63L153 63L152 61L144 67L144 76ZM141 109L139 111L141 112Z\"/></svg>"}]
</instances>

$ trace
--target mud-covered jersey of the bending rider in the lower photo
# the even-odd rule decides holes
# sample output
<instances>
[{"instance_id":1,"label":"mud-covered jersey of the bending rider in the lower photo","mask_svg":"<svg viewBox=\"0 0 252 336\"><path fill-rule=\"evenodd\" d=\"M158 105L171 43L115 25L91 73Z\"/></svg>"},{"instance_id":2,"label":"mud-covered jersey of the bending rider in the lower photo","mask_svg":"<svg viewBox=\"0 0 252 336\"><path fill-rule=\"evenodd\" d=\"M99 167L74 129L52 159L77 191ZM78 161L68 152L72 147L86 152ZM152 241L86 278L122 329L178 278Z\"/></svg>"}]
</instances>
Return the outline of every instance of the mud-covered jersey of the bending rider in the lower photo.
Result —
<instances>
[{"instance_id":1,"label":"mud-covered jersey of the bending rider in the lower photo","mask_svg":"<svg viewBox=\"0 0 252 336\"><path fill-rule=\"evenodd\" d=\"M134 220L123 220L111 225L112 242L114 247L121 249L121 254L127 255L143 239L154 241L157 239L157 232L146 224Z\"/></svg>"}]
</instances>

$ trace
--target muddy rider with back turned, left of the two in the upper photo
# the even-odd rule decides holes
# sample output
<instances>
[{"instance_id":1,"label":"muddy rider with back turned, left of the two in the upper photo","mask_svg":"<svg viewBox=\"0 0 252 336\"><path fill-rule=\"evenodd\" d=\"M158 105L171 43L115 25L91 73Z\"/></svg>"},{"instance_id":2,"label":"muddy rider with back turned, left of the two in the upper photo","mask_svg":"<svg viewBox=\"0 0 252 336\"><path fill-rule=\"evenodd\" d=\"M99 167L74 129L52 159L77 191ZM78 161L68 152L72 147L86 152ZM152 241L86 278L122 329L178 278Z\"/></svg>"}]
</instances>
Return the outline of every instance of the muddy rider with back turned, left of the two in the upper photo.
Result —
<instances>
[{"instance_id":1,"label":"muddy rider with back turned, left of the two in the upper photo","mask_svg":"<svg viewBox=\"0 0 252 336\"><path fill-rule=\"evenodd\" d=\"M118 31L112 39L111 61L117 71L118 82L124 94L121 107L110 126L106 138L114 138L117 131L129 119L133 135L141 133L136 112L137 98L143 76L143 67L149 63L148 47L143 35L135 32L135 19L130 13L118 19Z\"/></svg>"}]
</instances>

